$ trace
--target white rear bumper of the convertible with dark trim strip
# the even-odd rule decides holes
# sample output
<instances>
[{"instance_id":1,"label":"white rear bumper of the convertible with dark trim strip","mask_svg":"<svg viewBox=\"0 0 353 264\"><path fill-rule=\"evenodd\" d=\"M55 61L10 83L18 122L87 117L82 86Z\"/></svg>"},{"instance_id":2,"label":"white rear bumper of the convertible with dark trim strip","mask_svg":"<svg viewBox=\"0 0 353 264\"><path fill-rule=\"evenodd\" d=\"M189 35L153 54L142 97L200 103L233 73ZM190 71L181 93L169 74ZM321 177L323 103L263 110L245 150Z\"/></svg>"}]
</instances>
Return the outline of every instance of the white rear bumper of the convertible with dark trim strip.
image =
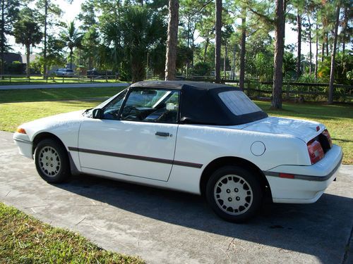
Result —
<instances>
[{"instance_id":1,"label":"white rear bumper of the convertible with dark trim strip","mask_svg":"<svg viewBox=\"0 0 353 264\"><path fill-rule=\"evenodd\" d=\"M342 162L342 149L333 145L318 163L310 166L281 165L264 171L275 203L314 203L335 180ZM293 175L293 179L280 177Z\"/></svg>"}]
</instances>

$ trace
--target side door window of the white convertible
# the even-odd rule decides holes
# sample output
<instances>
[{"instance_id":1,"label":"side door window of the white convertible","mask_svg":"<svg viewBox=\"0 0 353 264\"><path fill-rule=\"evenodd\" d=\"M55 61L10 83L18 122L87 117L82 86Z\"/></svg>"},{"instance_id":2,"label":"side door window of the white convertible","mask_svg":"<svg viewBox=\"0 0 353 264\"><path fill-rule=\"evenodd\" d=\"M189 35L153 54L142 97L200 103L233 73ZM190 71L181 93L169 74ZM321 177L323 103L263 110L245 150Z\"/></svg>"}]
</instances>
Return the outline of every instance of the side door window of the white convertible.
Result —
<instances>
[{"instance_id":1,"label":"side door window of the white convertible","mask_svg":"<svg viewBox=\"0 0 353 264\"><path fill-rule=\"evenodd\" d=\"M128 95L121 120L140 122L178 122L179 91L137 88Z\"/></svg>"}]
</instances>

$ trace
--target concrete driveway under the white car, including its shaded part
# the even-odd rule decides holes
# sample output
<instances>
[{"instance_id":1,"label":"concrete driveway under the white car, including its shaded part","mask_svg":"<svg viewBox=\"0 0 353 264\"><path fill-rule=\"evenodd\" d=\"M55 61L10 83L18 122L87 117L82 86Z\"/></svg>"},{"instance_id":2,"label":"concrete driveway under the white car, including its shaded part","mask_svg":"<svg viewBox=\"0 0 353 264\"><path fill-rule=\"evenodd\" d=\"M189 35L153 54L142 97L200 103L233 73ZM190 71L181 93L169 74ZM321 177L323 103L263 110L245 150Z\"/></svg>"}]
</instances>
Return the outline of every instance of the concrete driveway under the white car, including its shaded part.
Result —
<instances>
[{"instance_id":1,"label":"concrete driveway under the white car, including its shaded part","mask_svg":"<svg viewBox=\"0 0 353 264\"><path fill-rule=\"evenodd\" d=\"M148 263L353 263L352 165L341 167L318 202L265 204L236 225L191 194L88 175L47 184L11 137L0 132L0 201L104 249Z\"/></svg>"}]
</instances>

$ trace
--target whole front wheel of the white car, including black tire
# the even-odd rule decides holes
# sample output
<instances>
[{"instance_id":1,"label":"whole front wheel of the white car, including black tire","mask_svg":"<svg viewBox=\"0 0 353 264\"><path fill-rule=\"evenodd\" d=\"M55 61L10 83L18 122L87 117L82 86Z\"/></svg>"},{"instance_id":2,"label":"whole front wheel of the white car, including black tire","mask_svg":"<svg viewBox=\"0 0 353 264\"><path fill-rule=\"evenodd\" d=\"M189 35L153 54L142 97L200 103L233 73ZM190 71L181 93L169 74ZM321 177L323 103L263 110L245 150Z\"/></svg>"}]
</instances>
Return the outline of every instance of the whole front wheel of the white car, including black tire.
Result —
<instances>
[{"instance_id":1,"label":"whole front wheel of the white car, including black tire","mask_svg":"<svg viewBox=\"0 0 353 264\"><path fill-rule=\"evenodd\" d=\"M49 183L64 182L71 175L67 151L53 139L44 139L37 144L35 167L40 177Z\"/></svg>"}]
</instances>

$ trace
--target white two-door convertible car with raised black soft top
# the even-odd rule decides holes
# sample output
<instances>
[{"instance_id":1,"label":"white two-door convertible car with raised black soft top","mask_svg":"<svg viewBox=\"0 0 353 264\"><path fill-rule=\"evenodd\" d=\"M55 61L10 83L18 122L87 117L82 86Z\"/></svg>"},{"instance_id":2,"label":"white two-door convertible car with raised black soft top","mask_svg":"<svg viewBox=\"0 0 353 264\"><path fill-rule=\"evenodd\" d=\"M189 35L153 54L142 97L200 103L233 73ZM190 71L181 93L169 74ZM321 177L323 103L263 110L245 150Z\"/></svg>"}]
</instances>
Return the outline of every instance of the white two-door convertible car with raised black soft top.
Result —
<instances>
[{"instance_id":1,"label":"white two-door convertible car with raised black soft top","mask_svg":"<svg viewBox=\"0 0 353 264\"><path fill-rule=\"evenodd\" d=\"M318 122L270 117L235 87L137 82L99 106L27 122L13 139L47 182L88 173L204 194L241 222L265 197L313 203L342 161Z\"/></svg>"}]
</instances>

